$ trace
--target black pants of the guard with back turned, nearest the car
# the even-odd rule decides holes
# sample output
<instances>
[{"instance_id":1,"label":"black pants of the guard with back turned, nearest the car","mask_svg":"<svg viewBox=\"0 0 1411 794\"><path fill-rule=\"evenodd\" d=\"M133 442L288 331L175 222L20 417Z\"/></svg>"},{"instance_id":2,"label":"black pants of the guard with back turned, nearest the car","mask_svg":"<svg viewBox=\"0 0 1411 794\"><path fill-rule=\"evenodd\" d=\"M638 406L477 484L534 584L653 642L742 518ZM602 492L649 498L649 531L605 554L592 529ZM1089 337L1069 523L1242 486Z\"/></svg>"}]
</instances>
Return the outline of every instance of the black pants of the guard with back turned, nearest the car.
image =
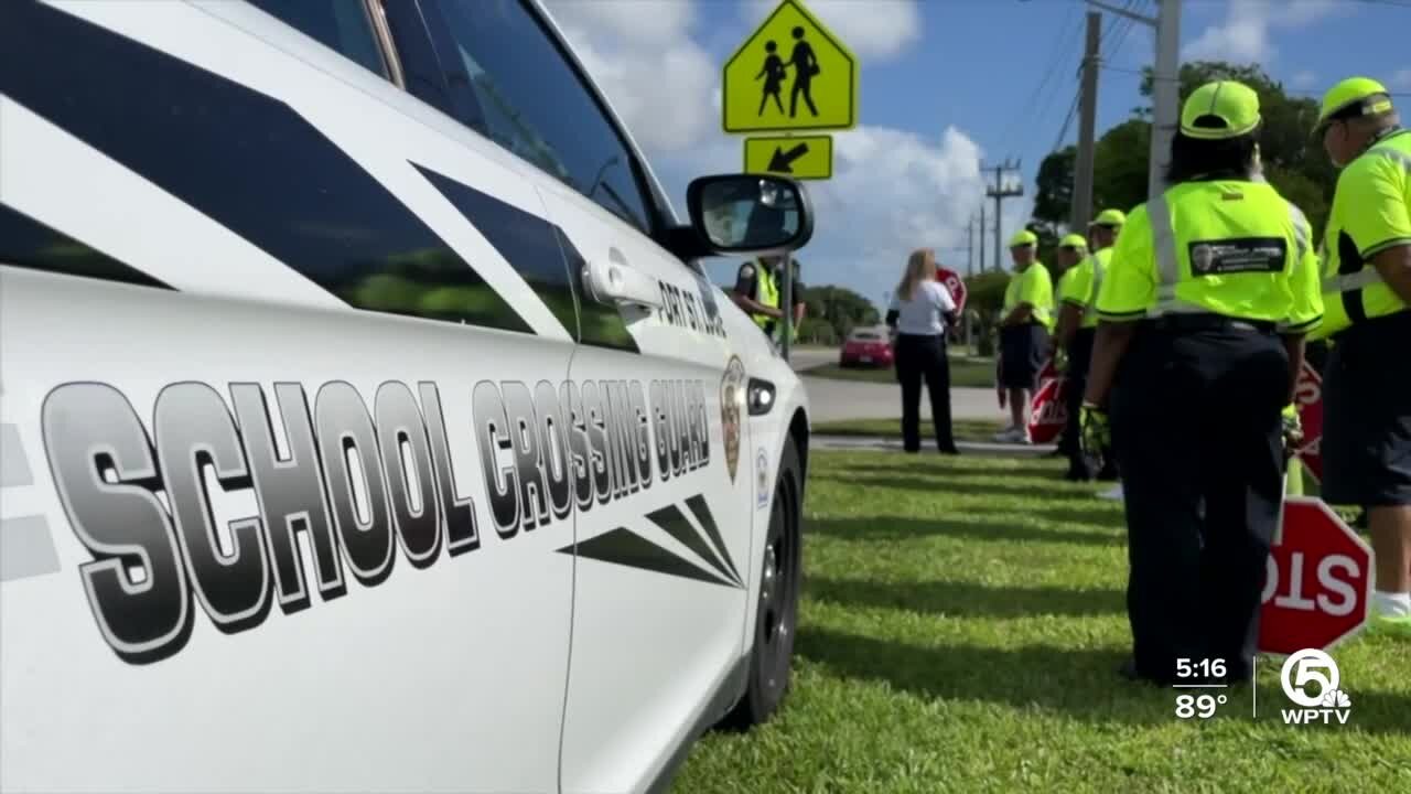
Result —
<instances>
[{"instance_id":1,"label":"black pants of the guard with back turned, nearest the car","mask_svg":"<svg viewBox=\"0 0 1411 794\"><path fill-rule=\"evenodd\" d=\"M1118 370L1112 432L1127 519L1127 616L1137 672L1178 658L1250 671L1264 562L1283 502L1274 333L1143 328Z\"/></svg>"}]
</instances>

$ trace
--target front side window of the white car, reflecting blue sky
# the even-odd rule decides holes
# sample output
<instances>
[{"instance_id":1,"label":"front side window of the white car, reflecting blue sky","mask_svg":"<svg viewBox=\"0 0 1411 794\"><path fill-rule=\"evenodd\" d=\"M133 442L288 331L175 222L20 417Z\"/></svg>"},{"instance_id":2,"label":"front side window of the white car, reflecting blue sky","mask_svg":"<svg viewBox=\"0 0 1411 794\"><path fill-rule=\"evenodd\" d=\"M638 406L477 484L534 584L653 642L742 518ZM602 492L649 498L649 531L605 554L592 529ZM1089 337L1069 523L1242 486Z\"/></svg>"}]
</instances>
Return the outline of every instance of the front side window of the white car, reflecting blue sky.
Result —
<instances>
[{"instance_id":1,"label":"front side window of the white car, reflecting blue sky","mask_svg":"<svg viewBox=\"0 0 1411 794\"><path fill-rule=\"evenodd\" d=\"M533 14L519 0L437 6L480 103L478 131L649 233L631 153Z\"/></svg>"}]
</instances>

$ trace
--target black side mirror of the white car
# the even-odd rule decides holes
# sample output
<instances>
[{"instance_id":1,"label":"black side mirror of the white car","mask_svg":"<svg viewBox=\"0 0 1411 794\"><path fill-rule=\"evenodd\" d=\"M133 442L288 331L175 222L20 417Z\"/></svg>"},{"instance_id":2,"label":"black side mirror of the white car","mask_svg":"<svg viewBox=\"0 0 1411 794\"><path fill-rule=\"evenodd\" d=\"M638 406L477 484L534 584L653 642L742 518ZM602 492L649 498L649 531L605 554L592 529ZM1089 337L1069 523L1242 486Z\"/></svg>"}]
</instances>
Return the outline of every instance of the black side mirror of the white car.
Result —
<instances>
[{"instance_id":1,"label":"black side mirror of the white car","mask_svg":"<svg viewBox=\"0 0 1411 794\"><path fill-rule=\"evenodd\" d=\"M792 251L813 237L809 194L786 177L700 177L686 188L686 206L696 236L714 254Z\"/></svg>"}]
</instances>

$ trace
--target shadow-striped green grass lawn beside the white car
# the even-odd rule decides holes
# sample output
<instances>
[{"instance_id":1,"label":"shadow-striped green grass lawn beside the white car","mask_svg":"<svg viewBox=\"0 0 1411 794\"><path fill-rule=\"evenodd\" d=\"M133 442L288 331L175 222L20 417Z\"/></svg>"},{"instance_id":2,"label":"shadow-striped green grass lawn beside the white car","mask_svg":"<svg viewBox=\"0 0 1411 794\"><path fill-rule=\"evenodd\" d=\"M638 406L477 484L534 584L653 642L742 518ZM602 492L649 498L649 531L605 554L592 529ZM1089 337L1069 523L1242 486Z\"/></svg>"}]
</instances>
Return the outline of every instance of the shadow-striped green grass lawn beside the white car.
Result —
<instances>
[{"instance_id":1,"label":"shadow-striped green grass lawn beside the white car","mask_svg":"<svg viewBox=\"0 0 1411 794\"><path fill-rule=\"evenodd\" d=\"M1346 726L1284 725L1278 668L1215 718L1115 675L1119 503L1061 462L816 452L793 689L673 791L1411 791L1411 646L1335 648Z\"/></svg>"}]
</instances>

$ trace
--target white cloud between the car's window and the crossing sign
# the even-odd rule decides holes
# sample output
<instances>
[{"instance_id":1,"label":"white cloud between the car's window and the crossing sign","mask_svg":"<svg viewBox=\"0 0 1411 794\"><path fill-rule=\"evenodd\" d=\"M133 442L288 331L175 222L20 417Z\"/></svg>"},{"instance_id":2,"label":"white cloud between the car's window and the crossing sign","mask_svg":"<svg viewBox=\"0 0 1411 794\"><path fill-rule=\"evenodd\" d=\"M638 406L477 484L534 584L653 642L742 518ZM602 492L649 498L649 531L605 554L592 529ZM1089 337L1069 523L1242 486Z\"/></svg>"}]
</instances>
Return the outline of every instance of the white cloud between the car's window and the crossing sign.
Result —
<instances>
[{"instance_id":1,"label":"white cloud between the car's window and the crossing sign","mask_svg":"<svg viewBox=\"0 0 1411 794\"><path fill-rule=\"evenodd\" d=\"M638 143L653 153L689 150L720 114L717 64L691 38L689 0L547 0L584 68Z\"/></svg>"}]
</instances>

